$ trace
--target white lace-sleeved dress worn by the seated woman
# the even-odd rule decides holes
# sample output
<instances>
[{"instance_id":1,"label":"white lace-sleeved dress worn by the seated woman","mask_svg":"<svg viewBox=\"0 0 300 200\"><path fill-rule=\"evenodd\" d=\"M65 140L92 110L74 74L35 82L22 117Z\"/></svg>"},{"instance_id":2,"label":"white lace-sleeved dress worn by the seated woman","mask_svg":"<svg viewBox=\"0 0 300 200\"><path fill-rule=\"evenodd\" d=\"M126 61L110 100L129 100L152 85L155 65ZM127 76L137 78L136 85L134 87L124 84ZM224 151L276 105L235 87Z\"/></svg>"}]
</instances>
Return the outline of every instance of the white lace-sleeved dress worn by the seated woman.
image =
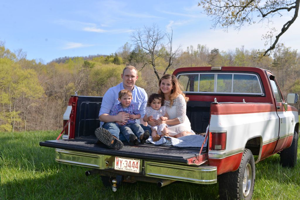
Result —
<instances>
[{"instance_id":1,"label":"white lace-sleeved dress worn by the seated woman","mask_svg":"<svg viewBox=\"0 0 300 200\"><path fill-rule=\"evenodd\" d=\"M169 115L169 119L178 118L180 124L177 125L167 125L169 130L169 135L177 135L183 131L190 132L190 120L187 118L187 104L185 102L184 97L180 94L173 101L172 107L170 107L170 101L166 101L164 106L167 108L167 113Z\"/></svg>"}]
</instances>

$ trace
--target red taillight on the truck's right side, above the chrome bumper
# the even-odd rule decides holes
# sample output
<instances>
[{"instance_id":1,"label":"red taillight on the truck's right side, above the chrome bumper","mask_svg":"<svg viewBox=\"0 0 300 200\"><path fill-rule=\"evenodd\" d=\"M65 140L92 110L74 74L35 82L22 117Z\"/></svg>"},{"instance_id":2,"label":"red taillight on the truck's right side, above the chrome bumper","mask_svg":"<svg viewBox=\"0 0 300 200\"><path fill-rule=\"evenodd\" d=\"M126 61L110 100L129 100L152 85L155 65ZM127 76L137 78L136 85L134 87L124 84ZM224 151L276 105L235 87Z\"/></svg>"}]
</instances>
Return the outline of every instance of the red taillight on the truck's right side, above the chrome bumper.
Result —
<instances>
[{"instance_id":1,"label":"red taillight on the truck's right side, above the chrome bumper","mask_svg":"<svg viewBox=\"0 0 300 200\"><path fill-rule=\"evenodd\" d=\"M209 150L226 149L226 132L209 132Z\"/></svg>"}]
</instances>

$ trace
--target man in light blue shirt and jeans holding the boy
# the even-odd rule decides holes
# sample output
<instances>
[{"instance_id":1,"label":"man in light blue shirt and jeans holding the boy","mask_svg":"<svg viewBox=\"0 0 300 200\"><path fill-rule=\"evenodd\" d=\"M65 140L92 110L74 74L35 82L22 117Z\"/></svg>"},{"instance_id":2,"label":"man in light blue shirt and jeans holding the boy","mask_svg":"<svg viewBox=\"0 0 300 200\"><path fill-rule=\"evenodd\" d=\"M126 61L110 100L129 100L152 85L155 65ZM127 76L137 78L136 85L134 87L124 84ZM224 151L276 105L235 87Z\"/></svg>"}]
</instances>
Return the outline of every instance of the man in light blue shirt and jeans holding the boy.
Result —
<instances>
[{"instance_id":1,"label":"man in light blue shirt and jeans holding the boy","mask_svg":"<svg viewBox=\"0 0 300 200\"><path fill-rule=\"evenodd\" d=\"M141 114L140 123L144 130L149 131L149 128L146 127L147 122L143 121L148 97L143 88L135 85L138 79L137 69L134 66L126 66L123 69L121 78L123 79L122 83L108 89L103 96L99 112L102 128L97 128L95 131L98 140L111 149L122 149L123 147L122 141L119 140L120 129L116 122L127 122L127 120L130 119L130 114L125 112L112 115L115 106L120 103L118 101L118 93L120 90L127 89L132 92L132 103L137 105ZM145 133L149 134L148 131ZM147 136L144 135L143 137Z\"/></svg>"}]
</instances>

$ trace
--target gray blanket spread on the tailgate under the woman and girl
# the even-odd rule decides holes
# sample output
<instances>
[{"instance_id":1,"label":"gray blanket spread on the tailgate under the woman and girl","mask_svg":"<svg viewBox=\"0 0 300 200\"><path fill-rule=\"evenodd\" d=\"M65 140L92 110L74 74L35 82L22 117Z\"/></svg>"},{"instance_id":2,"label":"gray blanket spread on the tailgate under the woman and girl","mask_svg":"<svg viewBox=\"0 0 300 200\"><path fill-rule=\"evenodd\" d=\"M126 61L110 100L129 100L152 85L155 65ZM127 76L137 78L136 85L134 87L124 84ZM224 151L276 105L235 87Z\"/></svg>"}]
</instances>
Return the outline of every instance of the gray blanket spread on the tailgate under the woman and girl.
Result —
<instances>
[{"instance_id":1,"label":"gray blanket spread on the tailgate under the woman and girl","mask_svg":"<svg viewBox=\"0 0 300 200\"><path fill-rule=\"evenodd\" d=\"M187 135L179 138L174 137L162 137L160 140L153 142L152 137L150 136L147 140L147 143L155 145L166 145L166 146L176 146L176 147L198 147L202 146L205 137L202 135ZM204 146L207 145L207 140L205 141Z\"/></svg>"}]
</instances>

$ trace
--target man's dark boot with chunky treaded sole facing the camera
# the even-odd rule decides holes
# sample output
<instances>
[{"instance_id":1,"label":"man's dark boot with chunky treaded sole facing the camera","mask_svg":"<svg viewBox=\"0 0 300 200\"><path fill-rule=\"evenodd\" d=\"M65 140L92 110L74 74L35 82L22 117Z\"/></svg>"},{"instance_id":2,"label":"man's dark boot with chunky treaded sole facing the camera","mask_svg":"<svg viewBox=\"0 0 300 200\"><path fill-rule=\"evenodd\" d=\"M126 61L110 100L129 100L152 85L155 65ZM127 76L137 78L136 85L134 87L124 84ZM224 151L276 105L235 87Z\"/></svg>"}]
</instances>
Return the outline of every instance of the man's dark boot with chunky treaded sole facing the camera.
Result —
<instances>
[{"instance_id":1,"label":"man's dark boot with chunky treaded sole facing the camera","mask_svg":"<svg viewBox=\"0 0 300 200\"><path fill-rule=\"evenodd\" d=\"M110 149L122 149L124 146L121 140L114 137L110 131L107 131L105 128L97 128L95 130L95 136Z\"/></svg>"}]
</instances>

